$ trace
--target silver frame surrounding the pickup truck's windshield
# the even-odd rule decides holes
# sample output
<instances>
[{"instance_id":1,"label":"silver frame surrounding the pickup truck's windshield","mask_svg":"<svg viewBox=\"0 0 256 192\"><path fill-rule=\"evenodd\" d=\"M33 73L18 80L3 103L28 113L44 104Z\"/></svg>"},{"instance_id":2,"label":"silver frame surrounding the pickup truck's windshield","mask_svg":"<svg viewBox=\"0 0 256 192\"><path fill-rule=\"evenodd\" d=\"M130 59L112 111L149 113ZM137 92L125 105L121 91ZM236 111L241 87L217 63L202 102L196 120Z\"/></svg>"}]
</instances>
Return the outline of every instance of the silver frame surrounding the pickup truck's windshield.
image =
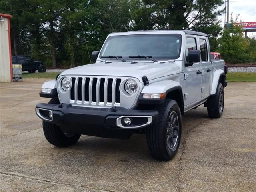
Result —
<instances>
[{"instance_id":1,"label":"silver frame surrounding the pickup truck's windshield","mask_svg":"<svg viewBox=\"0 0 256 192\"><path fill-rule=\"evenodd\" d=\"M99 58L101 60L113 60L112 58L102 58L102 52L104 50L104 48L106 47L107 45L107 42L108 40L112 39L112 38L122 38L123 36L155 36L155 35L163 35L163 36L178 36L179 37L179 40L180 40L180 45L179 45L179 54L175 57L173 56L152 56L153 59L156 59L156 60L175 60L175 59L178 59L180 58L180 54L182 52L181 48L182 48L182 34L180 33L154 33L154 34L125 34L125 35L112 35L112 36L108 36L100 50L100 53L99 53ZM122 55L118 55L120 56L122 59L125 59L125 60L147 60L146 58L129 58L128 56L122 56ZM129 56L134 56L134 55L129 55ZM146 56L150 56L150 55L146 55ZM103 56L104 57L104 56Z\"/></svg>"}]
</instances>

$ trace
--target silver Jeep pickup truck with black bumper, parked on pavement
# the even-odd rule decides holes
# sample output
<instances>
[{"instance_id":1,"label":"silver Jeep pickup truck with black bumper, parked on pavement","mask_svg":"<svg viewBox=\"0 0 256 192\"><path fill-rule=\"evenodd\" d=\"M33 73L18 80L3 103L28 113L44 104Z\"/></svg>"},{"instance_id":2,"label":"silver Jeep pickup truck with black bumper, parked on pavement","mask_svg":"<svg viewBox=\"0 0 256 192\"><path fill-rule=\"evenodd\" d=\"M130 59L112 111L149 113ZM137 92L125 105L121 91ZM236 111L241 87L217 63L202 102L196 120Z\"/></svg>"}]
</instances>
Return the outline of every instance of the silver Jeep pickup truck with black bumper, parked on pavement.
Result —
<instances>
[{"instance_id":1,"label":"silver Jeep pickup truck with black bumper, parked on pavement","mask_svg":"<svg viewBox=\"0 0 256 192\"><path fill-rule=\"evenodd\" d=\"M70 146L81 134L127 139L139 133L154 158L170 160L186 111L204 104L210 118L222 115L227 68L224 60L211 60L204 33L112 33L92 60L42 85L40 96L51 100L37 104L36 114L50 144Z\"/></svg>"}]
</instances>

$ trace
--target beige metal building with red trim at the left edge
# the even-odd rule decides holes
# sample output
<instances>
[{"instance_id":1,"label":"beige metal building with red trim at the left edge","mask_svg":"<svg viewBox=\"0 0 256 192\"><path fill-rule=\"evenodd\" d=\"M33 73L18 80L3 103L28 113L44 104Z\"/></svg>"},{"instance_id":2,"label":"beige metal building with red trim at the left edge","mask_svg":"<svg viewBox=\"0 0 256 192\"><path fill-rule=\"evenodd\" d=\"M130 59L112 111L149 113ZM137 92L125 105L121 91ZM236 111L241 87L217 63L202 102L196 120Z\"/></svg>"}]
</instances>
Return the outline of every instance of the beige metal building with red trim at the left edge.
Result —
<instances>
[{"instance_id":1,"label":"beige metal building with red trim at the left edge","mask_svg":"<svg viewBox=\"0 0 256 192\"><path fill-rule=\"evenodd\" d=\"M12 81L10 18L0 13L0 82Z\"/></svg>"}]
</instances>

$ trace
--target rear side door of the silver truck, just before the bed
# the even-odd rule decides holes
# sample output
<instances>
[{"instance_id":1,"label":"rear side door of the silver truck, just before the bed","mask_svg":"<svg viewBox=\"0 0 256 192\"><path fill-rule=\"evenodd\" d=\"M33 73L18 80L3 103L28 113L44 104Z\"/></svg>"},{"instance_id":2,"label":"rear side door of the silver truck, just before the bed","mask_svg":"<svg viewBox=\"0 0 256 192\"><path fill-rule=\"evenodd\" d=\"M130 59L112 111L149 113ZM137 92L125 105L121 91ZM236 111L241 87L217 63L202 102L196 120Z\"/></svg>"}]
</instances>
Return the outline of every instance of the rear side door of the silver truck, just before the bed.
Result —
<instances>
[{"instance_id":1,"label":"rear side door of the silver truck, just before the bed","mask_svg":"<svg viewBox=\"0 0 256 192\"><path fill-rule=\"evenodd\" d=\"M210 78L212 74L212 62L210 60L210 52L208 50L208 38L199 37L199 45L201 51L201 98L205 98L209 95L210 90Z\"/></svg>"}]
</instances>

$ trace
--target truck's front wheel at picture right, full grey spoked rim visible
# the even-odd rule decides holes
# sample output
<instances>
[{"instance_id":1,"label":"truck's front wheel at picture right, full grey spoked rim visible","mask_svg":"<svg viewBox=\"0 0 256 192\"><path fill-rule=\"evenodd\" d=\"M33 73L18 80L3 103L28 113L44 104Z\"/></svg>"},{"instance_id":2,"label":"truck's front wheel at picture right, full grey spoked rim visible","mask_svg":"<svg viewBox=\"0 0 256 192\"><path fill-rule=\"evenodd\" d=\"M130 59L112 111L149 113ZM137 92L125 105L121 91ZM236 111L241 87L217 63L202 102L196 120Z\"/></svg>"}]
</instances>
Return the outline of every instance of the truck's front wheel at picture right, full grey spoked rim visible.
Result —
<instances>
[{"instance_id":1,"label":"truck's front wheel at picture right, full grey spoked rim visible","mask_svg":"<svg viewBox=\"0 0 256 192\"><path fill-rule=\"evenodd\" d=\"M180 145L182 129L180 108L175 100L166 99L158 112L158 122L151 129L147 130L146 137L148 150L150 154L158 160L171 160L176 155ZM176 117L178 129L177 127L174 128L174 125L176 126L176 123L173 123L173 126L170 126L170 124L168 124L168 120L170 120L172 116L173 119L174 116ZM172 135L171 132L173 132ZM170 136L175 135L176 138L173 137L172 139L168 139L170 138ZM176 139L175 143L174 139ZM173 144L171 140L173 141Z\"/></svg>"}]
</instances>

